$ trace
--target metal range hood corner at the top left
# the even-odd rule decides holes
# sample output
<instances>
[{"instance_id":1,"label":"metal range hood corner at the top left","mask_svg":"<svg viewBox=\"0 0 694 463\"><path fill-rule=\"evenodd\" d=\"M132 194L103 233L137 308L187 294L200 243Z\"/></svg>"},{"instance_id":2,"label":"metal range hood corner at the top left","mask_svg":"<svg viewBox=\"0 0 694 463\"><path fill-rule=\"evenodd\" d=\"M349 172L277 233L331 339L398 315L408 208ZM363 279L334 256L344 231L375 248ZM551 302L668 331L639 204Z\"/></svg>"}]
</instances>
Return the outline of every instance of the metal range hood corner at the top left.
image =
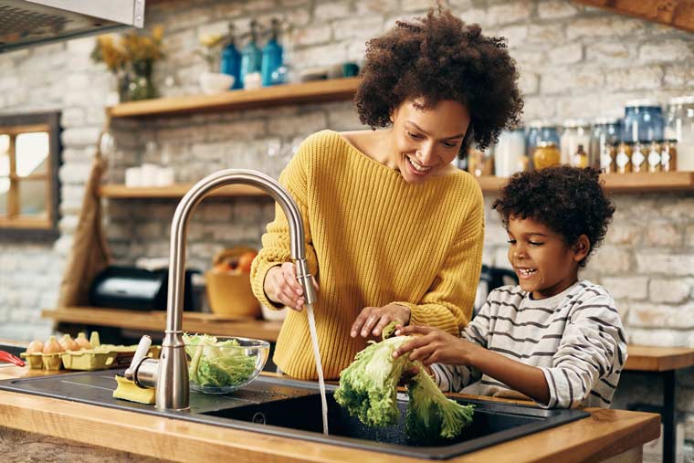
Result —
<instances>
[{"instance_id":1,"label":"metal range hood corner at the top left","mask_svg":"<svg viewBox=\"0 0 694 463\"><path fill-rule=\"evenodd\" d=\"M0 0L0 52L143 24L144 0Z\"/></svg>"}]
</instances>

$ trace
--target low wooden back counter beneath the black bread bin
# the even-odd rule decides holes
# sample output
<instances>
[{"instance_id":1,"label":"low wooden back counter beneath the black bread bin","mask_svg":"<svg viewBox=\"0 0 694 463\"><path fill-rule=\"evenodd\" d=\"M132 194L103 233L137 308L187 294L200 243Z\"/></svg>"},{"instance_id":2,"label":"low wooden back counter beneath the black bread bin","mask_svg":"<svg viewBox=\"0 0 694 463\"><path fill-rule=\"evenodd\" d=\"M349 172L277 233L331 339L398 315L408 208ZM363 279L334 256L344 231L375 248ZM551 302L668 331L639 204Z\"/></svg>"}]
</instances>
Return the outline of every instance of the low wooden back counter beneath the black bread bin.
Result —
<instances>
[{"instance_id":1,"label":"low wooden back counter beneath the black bread bin","mask_svg":"<svg viewBox=\"0 0 694 463\"><path fill-rule=\"evenodd\" d=\"M55 321L112 326L131 330L162 331L166 326L165 310L121 310L102 307L67 307L42 310L41 316ZM184 312L184 331L205 332L217 336L239 336L275 342L281 321L230 319L212 313Z\"/></svg>"}]
</instances>

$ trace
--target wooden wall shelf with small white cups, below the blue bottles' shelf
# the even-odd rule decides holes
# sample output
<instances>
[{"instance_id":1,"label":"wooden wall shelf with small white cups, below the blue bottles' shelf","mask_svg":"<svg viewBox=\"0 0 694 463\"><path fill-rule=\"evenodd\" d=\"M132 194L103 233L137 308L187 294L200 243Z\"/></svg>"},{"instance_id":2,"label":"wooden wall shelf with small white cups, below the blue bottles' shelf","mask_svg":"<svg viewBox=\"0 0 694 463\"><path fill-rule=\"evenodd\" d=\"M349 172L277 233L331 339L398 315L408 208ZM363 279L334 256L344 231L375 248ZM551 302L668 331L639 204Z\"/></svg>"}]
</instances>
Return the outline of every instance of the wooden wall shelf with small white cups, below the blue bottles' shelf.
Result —
<instances>
[{"instance_id":1,"label":"wooden wall shelf with small white cups, below the blue bottles' shelf","mask_svg":"<svg viewBox=\"0 0 694 463\"><path fill-rule=\"evenodd\" d=\"M104 198L182 198L193 184L173 184L171 186L129 187L123 184L104 184L100 186L99 195ZM246 184L223 186L211 196L265 196L264 191Z\"/></svg>"}]
</instances>

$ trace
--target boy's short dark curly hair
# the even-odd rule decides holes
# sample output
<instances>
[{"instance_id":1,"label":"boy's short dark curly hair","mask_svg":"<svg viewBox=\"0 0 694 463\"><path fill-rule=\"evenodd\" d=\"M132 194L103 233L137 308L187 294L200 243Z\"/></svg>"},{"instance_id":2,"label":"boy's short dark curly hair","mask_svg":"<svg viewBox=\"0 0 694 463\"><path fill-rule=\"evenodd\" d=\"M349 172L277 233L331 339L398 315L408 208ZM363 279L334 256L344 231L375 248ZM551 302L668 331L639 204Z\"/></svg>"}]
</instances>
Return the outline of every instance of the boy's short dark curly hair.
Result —
<instances>
[{"instance_id":1,"label":"boy's short dark curly hair","mask_svg":"<svg viewBox=\"0 0 694 463\"><path fill-rule=\"evenodd\" d=\"M514 174L491 207L499 212L507 228L510 217L516 216L549 226L569 246L585 235L590 241L590 254L603 244L615 214L615 205L600 184L600 172L568 165ZM585 267L587 260L584 258L579 265Z\"/></svg>"}]
</instances>

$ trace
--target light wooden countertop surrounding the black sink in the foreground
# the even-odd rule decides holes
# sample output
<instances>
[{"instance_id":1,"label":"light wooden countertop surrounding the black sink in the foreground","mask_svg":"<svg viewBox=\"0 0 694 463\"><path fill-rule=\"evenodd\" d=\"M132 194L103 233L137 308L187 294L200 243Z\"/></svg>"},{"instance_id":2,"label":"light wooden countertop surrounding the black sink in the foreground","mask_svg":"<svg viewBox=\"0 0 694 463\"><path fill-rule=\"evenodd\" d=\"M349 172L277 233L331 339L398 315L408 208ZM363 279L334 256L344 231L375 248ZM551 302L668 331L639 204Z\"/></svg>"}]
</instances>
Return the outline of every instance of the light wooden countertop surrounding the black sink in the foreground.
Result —
<instances>
[{"instance_id":1,"label":"light wooden countertop surrounding the black sink in the foreground","mask_svg":"<svg viewBox=\"0 0 694 463\"><path fill-rule=\"evenodd\" d=\"M5 367L0 374L6 378L47 373ZM588 418L447 461L601 461L640 447L660 433L660 419L655 414L593 408L587 411L591 413ZM319 443L301 445L297 439L7 391L0 391L0 423L26 432L187 463L226 461L232 455L235 463L386 463L394 459L367 450Z\"/></svg>"}]
</instances>

